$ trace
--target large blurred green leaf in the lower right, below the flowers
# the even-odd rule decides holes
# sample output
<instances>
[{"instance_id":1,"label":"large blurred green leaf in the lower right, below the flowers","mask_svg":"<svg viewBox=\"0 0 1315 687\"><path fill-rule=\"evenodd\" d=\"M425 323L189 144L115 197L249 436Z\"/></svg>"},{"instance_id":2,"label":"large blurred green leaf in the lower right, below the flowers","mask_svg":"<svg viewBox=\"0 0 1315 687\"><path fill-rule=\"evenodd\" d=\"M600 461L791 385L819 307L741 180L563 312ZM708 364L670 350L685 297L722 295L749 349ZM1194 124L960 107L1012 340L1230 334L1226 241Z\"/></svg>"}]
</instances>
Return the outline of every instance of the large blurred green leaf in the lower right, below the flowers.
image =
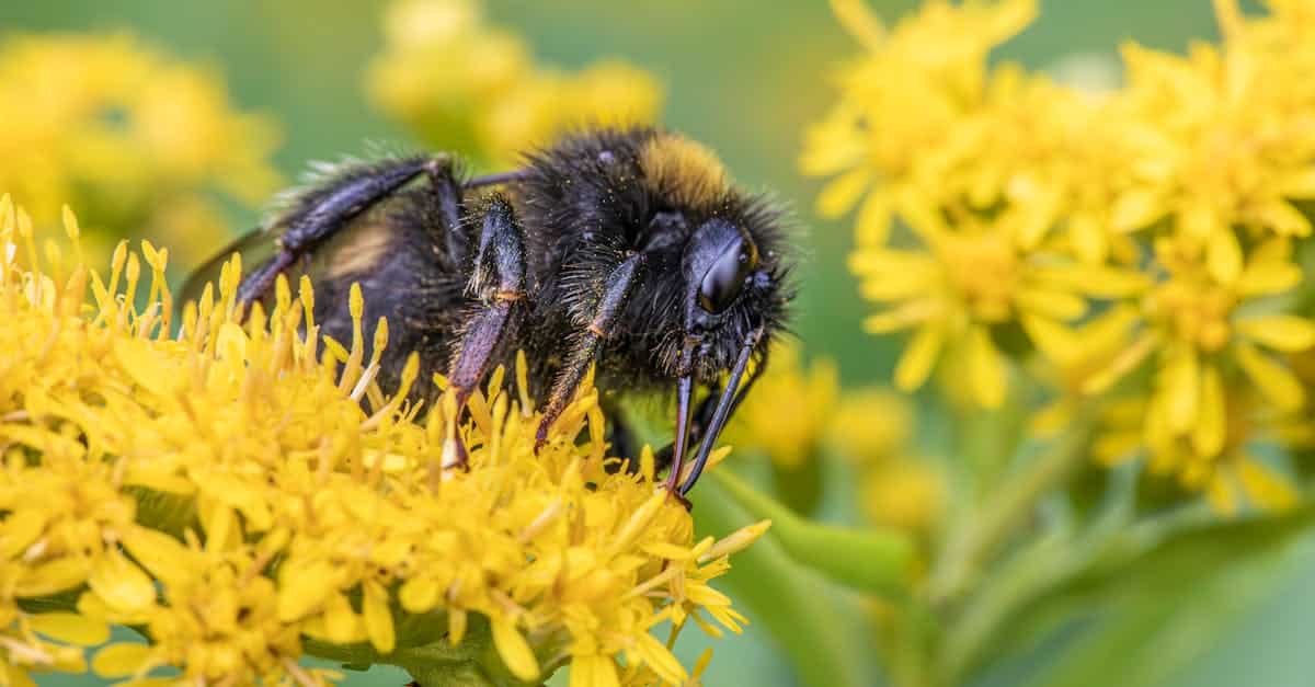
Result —
<instances>
[{"instance_id":1,"label":"large blurred green leaf in the lower right, below the flowers","mask_svg":"<svg viewBox=\"0 0 1315 687\"><path fill-rule=\"evenodd\" d=\"M1290 570L1315 509L1219 521L1166 517L1111 537L1085 572L1023 604L977 657L1011 684L1159 687L1199 659ZM1043 586L1044 588L1044 586ZM995 675L999 676L998 674Z\"/></svg>"}]
</instances>

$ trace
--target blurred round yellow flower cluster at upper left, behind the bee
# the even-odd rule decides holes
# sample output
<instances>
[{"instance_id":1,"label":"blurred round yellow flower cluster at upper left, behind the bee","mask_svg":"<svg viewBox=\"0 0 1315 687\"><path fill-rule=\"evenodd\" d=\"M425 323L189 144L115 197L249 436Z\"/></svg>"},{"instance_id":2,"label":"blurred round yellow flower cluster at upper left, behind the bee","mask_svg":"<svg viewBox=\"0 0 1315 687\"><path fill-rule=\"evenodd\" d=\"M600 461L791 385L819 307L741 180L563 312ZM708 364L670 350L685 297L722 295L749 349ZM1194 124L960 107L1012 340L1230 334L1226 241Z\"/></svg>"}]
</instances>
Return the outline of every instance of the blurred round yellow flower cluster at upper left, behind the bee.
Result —
<instances>
[{"instance_id":1,"label":"blurred round yellow flower cluster at upper left, behind the bee","mask_svg":"<svg viewBox=\"0 0 1315 687\"><path fill-rule=\"evenodd\" d=\"M222 79L130 36L0 41L0 188L38 221L72 201L88 258L133 236L170 237L195 265L226 226L217 195L255 204L277 188L275 124L237 112Z\"/></svg>"}]
</instances>

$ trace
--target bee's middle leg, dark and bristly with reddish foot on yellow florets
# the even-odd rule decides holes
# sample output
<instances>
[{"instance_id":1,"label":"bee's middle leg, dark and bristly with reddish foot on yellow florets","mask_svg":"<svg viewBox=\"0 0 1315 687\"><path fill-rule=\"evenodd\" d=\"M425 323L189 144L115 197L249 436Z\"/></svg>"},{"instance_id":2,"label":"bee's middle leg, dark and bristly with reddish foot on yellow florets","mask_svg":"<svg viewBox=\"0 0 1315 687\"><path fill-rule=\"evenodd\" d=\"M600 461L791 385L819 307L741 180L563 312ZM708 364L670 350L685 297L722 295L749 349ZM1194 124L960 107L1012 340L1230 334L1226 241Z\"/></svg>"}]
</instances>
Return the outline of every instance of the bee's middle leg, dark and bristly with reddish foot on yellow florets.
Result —
<instances>
[{"instance_id":1,"label":"bee's middle leg, dark and bristly with reddish foot on yellow florets","mask_svg":"<svg viewBox=\"0 0 1315 687\"><path fill-rule=\"evenodd\" d=\"M526 301L525 232L501 195L485 205L479 240L467 287L479 305L466 322L447 374L458 413L484 379L500 344L514 333ZM458 433L454 465L464 466L466 461L466 445Z\"/></svg>"}]
</instances>

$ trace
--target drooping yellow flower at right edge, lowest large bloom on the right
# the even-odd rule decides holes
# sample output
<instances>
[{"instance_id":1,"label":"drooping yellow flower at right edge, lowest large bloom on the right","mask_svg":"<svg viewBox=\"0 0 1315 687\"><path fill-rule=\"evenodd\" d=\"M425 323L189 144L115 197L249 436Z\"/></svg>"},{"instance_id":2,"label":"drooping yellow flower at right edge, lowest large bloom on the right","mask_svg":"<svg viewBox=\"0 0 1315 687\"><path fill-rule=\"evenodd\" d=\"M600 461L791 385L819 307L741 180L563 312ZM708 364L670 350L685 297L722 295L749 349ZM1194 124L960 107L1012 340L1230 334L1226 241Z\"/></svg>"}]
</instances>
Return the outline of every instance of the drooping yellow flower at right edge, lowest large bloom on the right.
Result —
<instances>
[{"instance_id":1,"label":"drooping yellow flower at right edge, lowest large bloom on the right","mask_svg":"<svg viewBox=\"0 0 1315 687\"><path fill-rule=\"evenodd\" d=\"M1061 404L1038 421L1063 425L1084 397L1111 390L1155 361L1151 388L1136 391L1141 388L1136 384L1132 396L1119 403L1135 409L1107 419L1097 455L1112 462L1145 446L1152 471L1180 474L1185 486L1208 488L1211 500L1230 512L1236 509L1235 478L1260 505L1290 504L1291 487L1282 494L1262 488L1276 480L1257 476L1268 472L1244 450L1265 434L1277 438L1265 428L1306 404L1282 354L1315 347L1315 322L1273 309L1273 296L1302 278L1291 263L1290 243L1276 238L1255 249L1231 284L1184 258L1180 246L1169 238L1157 242L1157 265L1165 274L1145 288L1136 307L1111 308L1077 334L1063 328L1036 330L1039 346L1059 361L1066 391Z\"/></svg>"}]
</instances>

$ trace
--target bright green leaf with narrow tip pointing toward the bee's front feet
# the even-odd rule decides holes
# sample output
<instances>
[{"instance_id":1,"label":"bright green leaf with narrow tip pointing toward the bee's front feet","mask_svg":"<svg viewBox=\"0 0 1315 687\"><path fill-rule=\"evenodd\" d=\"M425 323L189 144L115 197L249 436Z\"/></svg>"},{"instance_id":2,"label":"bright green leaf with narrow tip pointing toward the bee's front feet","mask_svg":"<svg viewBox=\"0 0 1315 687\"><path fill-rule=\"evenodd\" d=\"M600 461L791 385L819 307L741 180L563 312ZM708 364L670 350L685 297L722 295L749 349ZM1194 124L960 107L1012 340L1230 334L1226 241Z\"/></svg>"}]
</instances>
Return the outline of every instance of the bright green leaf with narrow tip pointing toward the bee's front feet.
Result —
<instances>
[{"instance_id":1,"label":"bright green leaf with narrow tip pointing toward the bee's front feet","mask_svg":"<svg viewBox=\"0 0 1315 687\"><path fill-rule=\"evenodd\" d=\"M714 471L710 482L717 482L752 516L769 519L772 529L767 538L798 565L859 591L907 598L915 558L913 541L903 532L803 520L729 470Z\"/></svg>"}]
</instances>

